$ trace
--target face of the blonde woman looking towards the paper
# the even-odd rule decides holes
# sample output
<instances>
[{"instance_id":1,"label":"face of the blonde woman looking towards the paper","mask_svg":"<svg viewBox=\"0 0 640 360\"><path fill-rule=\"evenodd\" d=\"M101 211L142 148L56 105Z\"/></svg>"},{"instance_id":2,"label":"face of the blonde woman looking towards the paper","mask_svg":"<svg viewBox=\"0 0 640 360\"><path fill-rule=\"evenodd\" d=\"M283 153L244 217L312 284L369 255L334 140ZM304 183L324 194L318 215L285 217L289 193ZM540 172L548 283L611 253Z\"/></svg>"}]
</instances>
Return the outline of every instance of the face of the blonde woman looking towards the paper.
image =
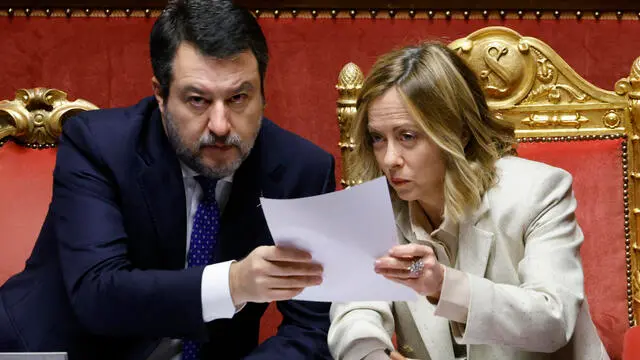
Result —
<instances>
[{"instance_id":1,"label":"face of the blonde woman looking towards the paper","mask_svg":"<svg viewBox=\"0 0 640 360\"><path fill-rule=\"evenodd\" d=\"M368 128L378 166L400 199L442 198L442 151L417 126L395 87L371 102Z\"/></svg>"}]
</instances>

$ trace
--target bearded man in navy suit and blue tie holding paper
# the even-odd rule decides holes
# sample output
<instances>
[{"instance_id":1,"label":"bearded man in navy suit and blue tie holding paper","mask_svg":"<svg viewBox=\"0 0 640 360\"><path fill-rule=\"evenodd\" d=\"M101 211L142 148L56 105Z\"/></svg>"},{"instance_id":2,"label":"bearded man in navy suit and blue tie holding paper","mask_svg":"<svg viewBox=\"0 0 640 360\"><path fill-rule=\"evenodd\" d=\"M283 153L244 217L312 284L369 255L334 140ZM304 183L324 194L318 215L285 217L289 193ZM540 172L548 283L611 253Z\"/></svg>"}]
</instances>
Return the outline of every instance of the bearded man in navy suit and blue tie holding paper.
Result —
<instances>
[{"instance_id":1,"label":"bearded man in navy suit and blue tie holding paper","mask_svg":"<svg viewBox=\"0 0 640 360\"><path fill-rule=\"evenodd\" d=\"M333 191L334 162L262 118L258 23L178 0L150 47L155 97L64 126L41 234L0 289L0 351L146 359L173 339L185 360L330 358L329 305L289 300L322 268L273 246L259 197ZM283 323L258 346L270 301Z\"/></svg>"}]
</instances>

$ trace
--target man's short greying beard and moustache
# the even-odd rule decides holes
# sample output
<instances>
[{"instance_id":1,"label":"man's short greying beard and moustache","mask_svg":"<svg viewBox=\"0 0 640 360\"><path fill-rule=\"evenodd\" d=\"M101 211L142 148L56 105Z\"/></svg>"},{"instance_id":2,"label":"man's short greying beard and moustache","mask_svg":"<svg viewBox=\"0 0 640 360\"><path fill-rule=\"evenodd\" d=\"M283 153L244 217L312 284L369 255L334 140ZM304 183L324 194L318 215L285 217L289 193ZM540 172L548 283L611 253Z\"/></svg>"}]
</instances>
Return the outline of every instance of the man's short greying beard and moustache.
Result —
<instances>
[{"instance_id":1,"label":"man's short greying beard and moustache","mask_svg":"<svg viewBox=\"0 0 640 360\"><path fill-rule=\"evenodd\" d=\"M180 133L174 121L175 119L171 112L168 111L166 106L164 109L164 119L165 127L167 129L167 137L169 138L169 142L176 151L176 154L178 155L180 161L198 172L200 175L208 178L221 179L233 174L236 170L238 170L242 162L249 156L249 153L253 148L253 144L255 143L255 139L253 139L253 141L251 141L250 143L242 141L238 134L231 133L225 137L220 137L211 132L207 132L200 137L196 144L189 147L182 141L182 138L180 137ZM262 119L260 119L260 122L262 122ZM224 144L227 146L235 147L240 152L240 156L227 164L221 164L219 166L207 166L201 157L200 150L205 146L213 146L216 143L218 145Z\"/></svg>"}]
</instances>

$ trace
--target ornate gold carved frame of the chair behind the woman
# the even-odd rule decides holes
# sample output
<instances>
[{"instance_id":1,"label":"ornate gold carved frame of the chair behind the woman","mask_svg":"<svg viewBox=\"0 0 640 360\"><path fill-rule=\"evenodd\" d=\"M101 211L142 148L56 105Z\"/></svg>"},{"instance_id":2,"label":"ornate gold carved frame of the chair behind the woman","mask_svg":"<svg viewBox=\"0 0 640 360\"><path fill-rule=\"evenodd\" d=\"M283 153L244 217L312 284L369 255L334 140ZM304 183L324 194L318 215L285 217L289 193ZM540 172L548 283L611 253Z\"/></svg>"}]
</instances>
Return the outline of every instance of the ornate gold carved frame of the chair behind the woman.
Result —
<instances>
[{"instance_id":1,"label":"ornate gold carved frame of the chair behind the woman","mask_svg":"<svg viewBox=\"0 0 640 360\"><path fill-rule=\"evenodd\" d=\"M578 75L550 46L505 27L487 27L453 41L476 73L494 114L512 122L519 142L624 139L622 142L625 261L629 325L640 315L640 58L615 91L600 89ZM360 69L347 64L338 85L338 123L343 159L342 184L359 183L348 173ZM349 79L348 86L344 79ZM631 139L628 144L628 139ZM630 145L630 146L629 146ZM633 249L633 250L632 250Z\"/></svg>"}]
</instances>

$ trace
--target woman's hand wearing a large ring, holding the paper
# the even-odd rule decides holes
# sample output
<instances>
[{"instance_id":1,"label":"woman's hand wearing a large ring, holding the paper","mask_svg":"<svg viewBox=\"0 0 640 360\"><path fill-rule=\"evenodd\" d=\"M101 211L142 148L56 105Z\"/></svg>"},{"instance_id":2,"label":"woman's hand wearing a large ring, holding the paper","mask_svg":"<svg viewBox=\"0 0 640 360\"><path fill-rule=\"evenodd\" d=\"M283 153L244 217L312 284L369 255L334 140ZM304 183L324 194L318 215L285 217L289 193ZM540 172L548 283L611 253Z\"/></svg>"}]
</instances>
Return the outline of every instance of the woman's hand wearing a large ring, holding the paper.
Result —
<instances>
[{"instance_id":1,"label":"woman's hand wearing a large ring, holding the paper","mask_svg":"<svg viewBox=\"0 0 640 360\"><path fill-rule=\"evenodd\" d=\"M424 268L411 272L411 264L422 260ZM429 246L407 244L394 246L387 256L376 260L375 271L389 280L408 286L418 294L439 298L444 281L444 265L438 262Z\"/></svg>"}]
</instances>

